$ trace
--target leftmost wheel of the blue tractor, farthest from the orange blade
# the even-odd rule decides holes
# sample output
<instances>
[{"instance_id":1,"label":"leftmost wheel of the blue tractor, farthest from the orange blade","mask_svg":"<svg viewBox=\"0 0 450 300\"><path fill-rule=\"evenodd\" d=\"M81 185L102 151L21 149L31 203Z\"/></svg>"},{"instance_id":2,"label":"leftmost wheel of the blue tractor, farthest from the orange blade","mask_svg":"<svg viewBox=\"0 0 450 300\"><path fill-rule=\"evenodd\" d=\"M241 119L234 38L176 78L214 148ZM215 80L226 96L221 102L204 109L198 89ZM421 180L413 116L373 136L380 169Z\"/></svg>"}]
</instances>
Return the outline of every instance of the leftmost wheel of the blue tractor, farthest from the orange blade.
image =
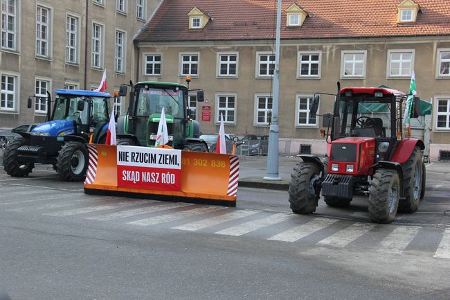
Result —
<instances>
[{"instance_id":1,"label":"leftmost wheel of the blue tractor, farthest from the orange blade","mask_svg":"<svg viewBox=\"0 0 450 300\"><path fill-rule=\"evenodd\" d=\"M3 152L3 169L12 177L28 176L35 167L34 163L17 161L17 150L23 145L26 145L26 139L18 137L6 145Z\"/></svg>"}]
</instances>

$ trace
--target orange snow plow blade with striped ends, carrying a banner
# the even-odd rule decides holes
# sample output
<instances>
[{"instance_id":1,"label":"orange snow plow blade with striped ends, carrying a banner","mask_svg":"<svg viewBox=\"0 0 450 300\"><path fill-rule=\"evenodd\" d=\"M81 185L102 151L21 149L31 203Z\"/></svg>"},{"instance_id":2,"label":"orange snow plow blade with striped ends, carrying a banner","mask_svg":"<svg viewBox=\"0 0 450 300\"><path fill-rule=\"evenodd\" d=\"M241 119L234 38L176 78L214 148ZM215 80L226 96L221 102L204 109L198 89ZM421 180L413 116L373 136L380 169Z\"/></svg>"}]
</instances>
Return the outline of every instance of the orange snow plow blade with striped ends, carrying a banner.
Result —
<instances>
[{"instance_id":1,"label":"orange snow plow blade with striped ends, carrying a banner","mask_svg":"<svg viewBox=\"0 0 450 300\"><path fill-rule=\"evenodd\" d=\"M87 145L84 193L236 205L233 155L125 145Z\"/></svg>"}]
</instances>

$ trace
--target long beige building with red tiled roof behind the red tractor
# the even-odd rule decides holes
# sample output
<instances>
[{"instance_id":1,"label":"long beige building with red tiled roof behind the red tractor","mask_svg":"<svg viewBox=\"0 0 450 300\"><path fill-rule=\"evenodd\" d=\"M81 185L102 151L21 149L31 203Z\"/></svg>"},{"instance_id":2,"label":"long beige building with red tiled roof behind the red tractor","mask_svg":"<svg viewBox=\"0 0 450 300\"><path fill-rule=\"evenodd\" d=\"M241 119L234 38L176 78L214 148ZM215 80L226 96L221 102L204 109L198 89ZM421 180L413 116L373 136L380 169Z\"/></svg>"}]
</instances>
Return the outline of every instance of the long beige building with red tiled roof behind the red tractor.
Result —
<instances>
[{"instance_id":1,"label":"long beige building with red tiled roof behind the red tractor","mask_svg":"<svg viewBox=\"0 0 450 300\"><path fill-rule=\"evenodd\" d=\"M163 1L136 36L138 78L192 76L208 99L191 101L202 132L218 132L222 114L227 133L268 134L277 1L219 2ZM431 158L450 150L447 0L282 1L281 24L280 152L307 144L323 153L322 118L309 116L316 91L335 94L340 81L407 92L413 71L418 95L433 103ZM318 114L333 100L323 97Z\"/></svg>"}]
</instances>

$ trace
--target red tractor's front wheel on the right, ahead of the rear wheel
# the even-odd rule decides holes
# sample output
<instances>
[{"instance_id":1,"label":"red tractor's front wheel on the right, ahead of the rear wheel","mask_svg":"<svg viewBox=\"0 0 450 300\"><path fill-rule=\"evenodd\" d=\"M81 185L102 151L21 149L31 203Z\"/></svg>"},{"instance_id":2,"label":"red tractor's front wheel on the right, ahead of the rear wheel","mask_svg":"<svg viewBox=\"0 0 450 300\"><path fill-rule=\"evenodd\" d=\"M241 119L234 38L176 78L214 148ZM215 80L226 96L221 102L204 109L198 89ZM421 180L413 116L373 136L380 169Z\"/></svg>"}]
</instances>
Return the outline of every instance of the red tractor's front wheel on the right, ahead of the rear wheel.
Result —
<instances>
[{"instance_id":1,"label":"red tractor's front wheel on the right, ahead of the rear wheel","mask_svg":"<svg viewBox=\"0 0 450 300\"><path fill-rule=\"evenodd\" d=\"M369 188L370 220L390 223L397 214L400 198L400 179L397 171L378 169Z\"/></svg>"}]
</instances>

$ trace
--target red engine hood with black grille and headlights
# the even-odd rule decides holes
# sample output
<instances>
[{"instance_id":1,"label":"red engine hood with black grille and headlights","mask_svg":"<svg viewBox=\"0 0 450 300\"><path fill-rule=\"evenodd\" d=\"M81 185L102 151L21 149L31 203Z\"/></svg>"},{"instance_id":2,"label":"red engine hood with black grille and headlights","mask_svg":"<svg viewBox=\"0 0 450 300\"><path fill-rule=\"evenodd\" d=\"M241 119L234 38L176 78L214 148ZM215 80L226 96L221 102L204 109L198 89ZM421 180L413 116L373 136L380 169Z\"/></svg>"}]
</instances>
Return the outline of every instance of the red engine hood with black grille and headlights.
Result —
<instances>
[{"instance_id":1,"label":"red engine hood with black grille and headlights","mask_svg":"<svg viewBox=\"0 0 450 300\"><path fill-rule=\"evenodd\" d=\"M367 175L375 162L375 138L347 137L332 142L328 173Z\"/></svg>"}]
</instances>

